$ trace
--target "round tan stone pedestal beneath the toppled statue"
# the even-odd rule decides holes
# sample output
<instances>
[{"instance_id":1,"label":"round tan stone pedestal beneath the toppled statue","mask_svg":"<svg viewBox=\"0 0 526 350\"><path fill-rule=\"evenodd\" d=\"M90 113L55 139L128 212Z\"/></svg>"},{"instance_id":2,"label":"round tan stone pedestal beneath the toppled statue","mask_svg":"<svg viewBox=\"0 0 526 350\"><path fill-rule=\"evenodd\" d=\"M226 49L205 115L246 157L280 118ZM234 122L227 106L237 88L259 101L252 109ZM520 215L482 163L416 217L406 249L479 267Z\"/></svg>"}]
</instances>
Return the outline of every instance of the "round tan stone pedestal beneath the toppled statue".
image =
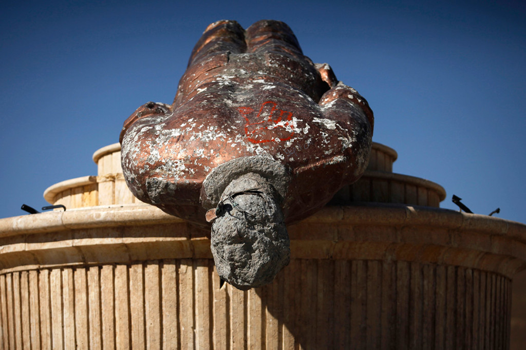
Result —
<instances>
[{"instance_id":1,"label":"round tan stone pedestal beneath the toppled statue","mask_svg":"<svg viewBox=\"0 0 526 350\"><path fill-rule=\"evenodd\" d=\"M113 162L54 185L65 212L0 220L0 347L509 347L526 226L433 207L439 185L378 158L369 191L291 225L289 266L249 291L220 288L209 232L133 203Z\"/></svg>"}]
</instances>

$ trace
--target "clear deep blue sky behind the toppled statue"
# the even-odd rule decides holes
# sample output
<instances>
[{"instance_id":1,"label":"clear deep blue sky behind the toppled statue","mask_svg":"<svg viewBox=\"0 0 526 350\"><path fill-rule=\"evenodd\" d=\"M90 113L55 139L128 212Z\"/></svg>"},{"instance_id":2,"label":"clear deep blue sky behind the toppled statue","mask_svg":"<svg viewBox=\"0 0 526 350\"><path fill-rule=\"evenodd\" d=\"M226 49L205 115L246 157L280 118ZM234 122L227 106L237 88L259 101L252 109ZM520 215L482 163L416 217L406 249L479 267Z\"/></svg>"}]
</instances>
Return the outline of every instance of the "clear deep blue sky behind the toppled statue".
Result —
<instances>
[{"instance_id":1,"label":"clear deep blue sky behind the toppled statue","mask_svg":"<svg viewBox=\"0 0 526 350\"><path fill-rule=\"evenodd\" d=\"M393 171L526 222L524 2L11 1L0 19L0 217L96 175L129 114L171 103L209 23L278 19L369 101Z\"/></svg>"}]
</instances>

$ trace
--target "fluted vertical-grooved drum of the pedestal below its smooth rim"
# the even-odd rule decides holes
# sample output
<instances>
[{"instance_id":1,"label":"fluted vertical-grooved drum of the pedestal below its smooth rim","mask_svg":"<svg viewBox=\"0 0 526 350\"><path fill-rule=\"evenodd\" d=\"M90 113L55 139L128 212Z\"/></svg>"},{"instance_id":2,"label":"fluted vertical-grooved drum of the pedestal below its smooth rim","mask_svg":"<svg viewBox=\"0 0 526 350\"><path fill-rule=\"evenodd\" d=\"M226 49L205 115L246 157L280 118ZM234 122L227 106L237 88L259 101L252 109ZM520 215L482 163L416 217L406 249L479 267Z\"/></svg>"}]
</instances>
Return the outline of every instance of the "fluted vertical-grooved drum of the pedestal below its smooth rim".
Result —
<instances>
[{"instance_id":1,"label":"fluted vertical-grooved drum of the pedestal below its smooth rim","mask_svg":"<svg viewBox=\"0 0 526 350\"><path fill-rule=\"evenodd\" d=\"M293 259L274 284L239 291L219 289L210 259L108 268L1 275L0 347L509 344L510 280L492 272L407 261ZM31 324L21 323L27 315Z\"/></svg>"}]
</instances>

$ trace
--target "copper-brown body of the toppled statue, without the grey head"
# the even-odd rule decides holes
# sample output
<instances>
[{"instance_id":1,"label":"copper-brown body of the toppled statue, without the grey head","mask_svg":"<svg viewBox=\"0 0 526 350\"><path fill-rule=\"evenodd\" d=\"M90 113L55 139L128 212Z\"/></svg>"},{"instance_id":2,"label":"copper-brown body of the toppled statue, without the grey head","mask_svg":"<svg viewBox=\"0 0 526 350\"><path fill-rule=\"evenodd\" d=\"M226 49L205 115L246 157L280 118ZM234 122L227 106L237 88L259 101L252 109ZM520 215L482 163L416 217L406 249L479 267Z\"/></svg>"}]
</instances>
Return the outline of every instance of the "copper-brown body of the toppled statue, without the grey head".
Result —
<instances>
[{"instance_id":1,"label":"copper-brown body of the toppled statue, without the grey head","mask_svg":"<svg viewBox=\"0 0 526 350\"><path fill-rule=\"evenodd\" d=\"M223 20L196 44L174 103L147 103L126 120L122 163L139 199L206 225L218 202L202 191L207 175L268 157L285 167L275 176L287 177L278 192L292 222L361 176L372 127L366 100L304 56L286 24L262 20L245 31Z\"/></svg>"}]
</instances>

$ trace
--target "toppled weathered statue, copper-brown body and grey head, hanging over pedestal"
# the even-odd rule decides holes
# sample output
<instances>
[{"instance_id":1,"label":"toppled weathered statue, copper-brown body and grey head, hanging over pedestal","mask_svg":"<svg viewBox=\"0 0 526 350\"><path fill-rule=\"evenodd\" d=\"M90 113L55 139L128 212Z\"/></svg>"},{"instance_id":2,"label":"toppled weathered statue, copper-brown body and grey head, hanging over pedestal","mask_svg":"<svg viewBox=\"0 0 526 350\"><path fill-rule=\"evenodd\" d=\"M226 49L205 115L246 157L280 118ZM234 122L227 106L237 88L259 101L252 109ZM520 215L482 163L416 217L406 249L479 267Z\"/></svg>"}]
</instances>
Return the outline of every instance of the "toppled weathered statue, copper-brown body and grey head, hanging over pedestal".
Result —
<instances>
[{"instance_id":1,"label":"toppled weathered statue, copper-brown body and grey head, hanging over pedestal","mask_svg":"<svg viewBox=\"0 0 526 350\"><path fill-rule=\"evenodd\" d=\"M320 209L368 163L373 114L291 29L221 20L197 42L171 105L148 102L124 122L131 192L210 225L222 280L247 290L290 258L286 224Z\"/></svg>"}]
</instances>

